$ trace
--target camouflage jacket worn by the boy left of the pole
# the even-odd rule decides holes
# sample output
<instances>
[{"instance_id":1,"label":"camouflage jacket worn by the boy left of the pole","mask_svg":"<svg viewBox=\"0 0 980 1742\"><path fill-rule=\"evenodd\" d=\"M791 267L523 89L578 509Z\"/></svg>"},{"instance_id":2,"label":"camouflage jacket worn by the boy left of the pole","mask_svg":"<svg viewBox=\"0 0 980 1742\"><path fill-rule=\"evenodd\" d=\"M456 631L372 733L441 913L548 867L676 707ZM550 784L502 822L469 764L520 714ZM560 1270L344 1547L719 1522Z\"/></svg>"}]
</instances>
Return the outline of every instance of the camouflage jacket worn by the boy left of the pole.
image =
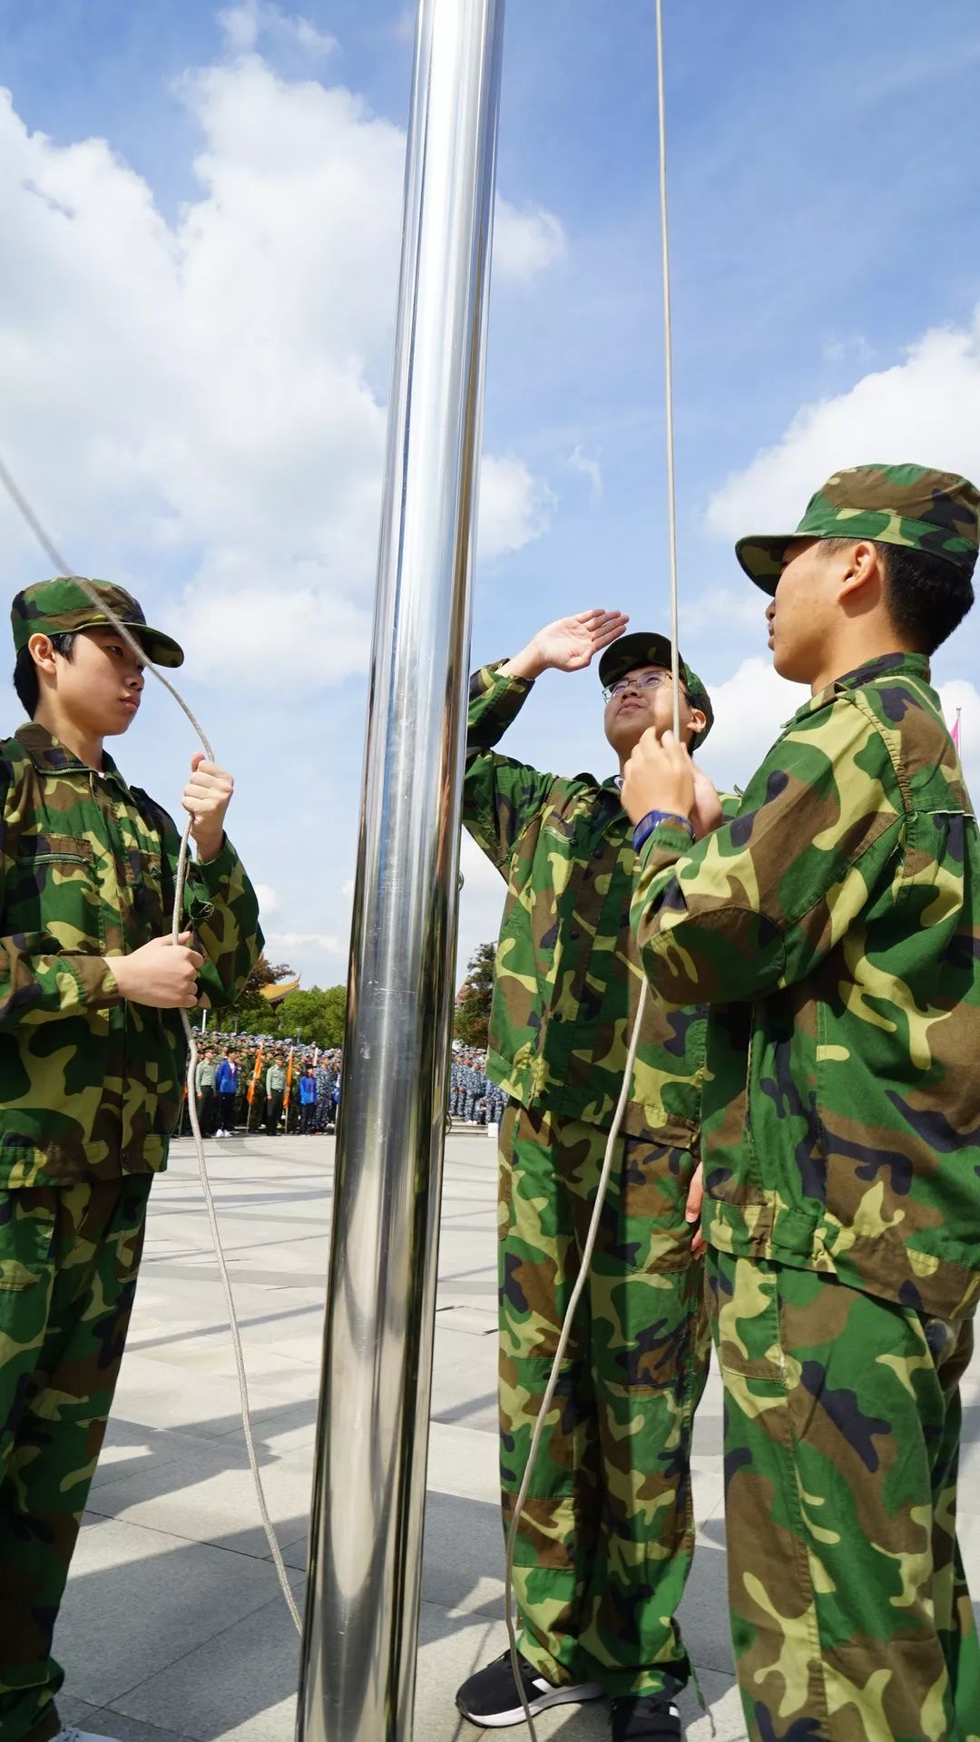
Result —
<instances>
[{"instance_id":1,"label":"camouflage jacket worn by the boy left of the pole","mask_svg":"<svg viewBox=\"0 0 980 1742\"><path fill-rule=\"evenodd\" d=\"M38 725L0 744L0 1186L164 1167L180 1010L126 1003L112 960L169 934L176 826L110 756L96 773ZM228 840L190 864L185 901L204 1002L232 1003L262 932Z\"/></svg>"}]
</instances>

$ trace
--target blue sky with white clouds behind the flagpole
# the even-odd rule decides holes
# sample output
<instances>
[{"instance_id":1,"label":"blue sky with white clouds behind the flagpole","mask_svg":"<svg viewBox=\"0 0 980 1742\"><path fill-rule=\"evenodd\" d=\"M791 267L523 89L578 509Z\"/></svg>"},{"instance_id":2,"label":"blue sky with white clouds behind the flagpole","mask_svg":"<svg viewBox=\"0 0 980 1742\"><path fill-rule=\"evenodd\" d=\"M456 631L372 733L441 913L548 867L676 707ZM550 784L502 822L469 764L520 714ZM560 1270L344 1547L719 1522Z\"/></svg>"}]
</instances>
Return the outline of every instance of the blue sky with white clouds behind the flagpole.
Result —
<instances>
[{"instance_id":1,"label":"blue sky with white clouds behind the flagpole","mask_svg":"<svg viewBox=\"0 0 980 1742\"><path fill-rule=\"evenodd\" d=\"M0 446L71 561L187 634L307 984L345 962L410 23L0 0ZM731 538L837 463L980 474L980 14L668 0L666 45L682 646L731 780L795 706ZM513 0L474 662L588 604L666 620L656 167L650 0ZM978 650L936 662L975 780ZM595 688L542 679L513 751L605 770ZM173 805L169 709L120 760ZM464 949L499 909L466 868Z\"/></svg>"}]
</instances>

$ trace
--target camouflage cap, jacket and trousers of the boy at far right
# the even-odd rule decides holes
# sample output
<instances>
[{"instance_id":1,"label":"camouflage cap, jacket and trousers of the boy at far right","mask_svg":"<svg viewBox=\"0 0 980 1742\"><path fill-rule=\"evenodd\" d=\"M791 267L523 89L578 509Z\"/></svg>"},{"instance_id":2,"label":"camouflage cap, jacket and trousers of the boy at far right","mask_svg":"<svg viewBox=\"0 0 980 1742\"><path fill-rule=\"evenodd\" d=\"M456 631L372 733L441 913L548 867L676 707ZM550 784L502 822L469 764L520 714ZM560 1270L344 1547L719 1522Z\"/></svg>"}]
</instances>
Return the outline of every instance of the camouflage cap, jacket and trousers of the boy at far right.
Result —
<instances>
[{"instance_id":1,"label":"camouflage cap, jacket and trousers of the boy at far right","mask_svg":"<svg viewBox=\"0 0 980 1742\"><path fill-rule=\"evenodd\" d=\"M977 493L840 474L806 533L938 547L970 573ZM739 547L769 591L774 545ZM814 695L732 822L694 848L659 824L640 862L650 984L711 1005L704 1233L750 1737L977 1742L956 1482L980 1294L980 847L926 657Z\"/></svg>"}]
</instances>

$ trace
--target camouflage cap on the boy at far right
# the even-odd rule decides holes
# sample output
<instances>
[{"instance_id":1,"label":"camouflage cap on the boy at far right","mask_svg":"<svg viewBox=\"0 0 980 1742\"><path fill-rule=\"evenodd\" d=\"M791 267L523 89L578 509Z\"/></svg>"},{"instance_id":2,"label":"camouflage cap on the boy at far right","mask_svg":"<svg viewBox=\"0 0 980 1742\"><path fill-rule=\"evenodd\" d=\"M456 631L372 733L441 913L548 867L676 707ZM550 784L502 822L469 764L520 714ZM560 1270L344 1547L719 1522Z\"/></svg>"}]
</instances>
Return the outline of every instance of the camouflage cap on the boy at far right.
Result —
<instances>
[{"instance_id":1,"label":"camouflage cap on the boy at far right","mask_svg":"<svg viewBox=\"0 0 980 1742\"><path fill-rule=\"evenodd\" d=\"M739 538L745 573L776 592L783 552L793 538L872 538L942 557L970 577L977 563L980 491L956 472L924 465L853 465L809 498L795 533Z\"/></svg>"}]
</instances>

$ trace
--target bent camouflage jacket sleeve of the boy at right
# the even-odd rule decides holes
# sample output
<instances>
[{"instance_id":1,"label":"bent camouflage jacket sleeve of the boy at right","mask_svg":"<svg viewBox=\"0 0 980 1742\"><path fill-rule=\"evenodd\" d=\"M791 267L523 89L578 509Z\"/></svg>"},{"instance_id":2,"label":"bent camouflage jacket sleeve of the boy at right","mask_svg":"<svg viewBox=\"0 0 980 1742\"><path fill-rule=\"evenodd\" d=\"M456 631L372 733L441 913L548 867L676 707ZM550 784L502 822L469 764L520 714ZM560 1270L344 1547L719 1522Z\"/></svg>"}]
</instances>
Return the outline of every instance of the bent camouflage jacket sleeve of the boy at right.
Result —
<instances>
[{"instance_id":1,"label":"bent camouflage jacket sleeve of the boy at right","mask_svg":"<svg viewBox=\"0 0 980 1742\"><path fill-rule=\"evenodd\" d=\"M806 979L902 850L905 803L854 693L800 714L734 819L692 848L663 822L631 904L643 969L670 1003L729 1003Z\"/></svg>"}]
</instances>

